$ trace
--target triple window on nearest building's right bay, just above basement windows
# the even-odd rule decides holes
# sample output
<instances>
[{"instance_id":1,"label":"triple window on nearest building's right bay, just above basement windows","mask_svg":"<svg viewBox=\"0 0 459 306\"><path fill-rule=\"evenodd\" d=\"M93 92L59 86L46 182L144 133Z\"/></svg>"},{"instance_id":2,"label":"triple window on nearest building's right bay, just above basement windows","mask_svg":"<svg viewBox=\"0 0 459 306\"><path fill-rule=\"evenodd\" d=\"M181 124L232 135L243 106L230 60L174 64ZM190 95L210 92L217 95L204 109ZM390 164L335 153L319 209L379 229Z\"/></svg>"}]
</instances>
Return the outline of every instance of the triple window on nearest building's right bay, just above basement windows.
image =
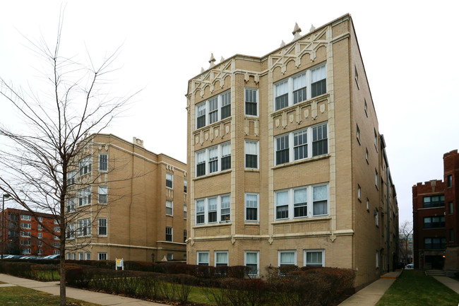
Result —
<instances>
[{"instance_id":1,"label":"triple window on nearest building's right bay, just above basement windows","mask_svg":"<svg viewBox=\"0 0 459 306\"><path fill-rule=\"evenodd\" d=\"M275 192L275 209L275 220L328 215L328 184Z\"/></svg>"}]
</instances>

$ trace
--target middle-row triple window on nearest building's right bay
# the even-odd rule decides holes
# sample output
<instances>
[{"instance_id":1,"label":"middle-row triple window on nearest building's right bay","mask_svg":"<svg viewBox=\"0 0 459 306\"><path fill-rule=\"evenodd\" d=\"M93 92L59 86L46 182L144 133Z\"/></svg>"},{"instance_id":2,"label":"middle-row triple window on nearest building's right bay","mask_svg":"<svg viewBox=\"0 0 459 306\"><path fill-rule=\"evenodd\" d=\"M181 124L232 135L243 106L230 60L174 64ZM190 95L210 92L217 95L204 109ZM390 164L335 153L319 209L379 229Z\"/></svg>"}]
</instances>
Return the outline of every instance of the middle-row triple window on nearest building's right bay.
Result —
<instances>
[{"instance_id":1,"label":"middle-row triple window on nearest building's right bay","mask_svg":"<svg viewBox=\"0 0 459 306\"><path fill-rule=\"evenodd\" d=\"M289 134L275 137L276 165L326 153L328 153L327 124L292 131Z\"/></svg>"}]
</instances>

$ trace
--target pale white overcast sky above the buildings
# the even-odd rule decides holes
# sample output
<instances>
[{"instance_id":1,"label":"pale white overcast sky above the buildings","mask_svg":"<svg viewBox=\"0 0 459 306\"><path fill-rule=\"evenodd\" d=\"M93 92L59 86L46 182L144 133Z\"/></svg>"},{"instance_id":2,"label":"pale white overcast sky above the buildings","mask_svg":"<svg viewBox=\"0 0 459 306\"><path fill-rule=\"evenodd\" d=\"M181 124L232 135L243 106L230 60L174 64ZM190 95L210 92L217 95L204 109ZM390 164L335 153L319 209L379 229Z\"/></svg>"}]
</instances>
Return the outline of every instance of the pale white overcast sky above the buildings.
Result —
<instances>
[{"instance_id":1,"label":"pale white overcast sky above the buildings","mask_svg":"<svg viewBox=\"0 0 459 306\"><path fill-rule=\"evenodd\" d=\"M424 4L425 3L425 4ZM400 223L412 220L412 185L443 179L443 153L459 148L458 4L455 1L2 1L0 76L33 85L30 40L53 45L65 6L62 55L100 62L122 45L115 95L143 89L106 133L186 162L190 78L234 54L261 57L350 13L387 145ZM34 70L35 69L35 70ZM39 88L35 88L39 90ZM15 119L0 100L0 120Z\"/></svg>"}]
</instances>

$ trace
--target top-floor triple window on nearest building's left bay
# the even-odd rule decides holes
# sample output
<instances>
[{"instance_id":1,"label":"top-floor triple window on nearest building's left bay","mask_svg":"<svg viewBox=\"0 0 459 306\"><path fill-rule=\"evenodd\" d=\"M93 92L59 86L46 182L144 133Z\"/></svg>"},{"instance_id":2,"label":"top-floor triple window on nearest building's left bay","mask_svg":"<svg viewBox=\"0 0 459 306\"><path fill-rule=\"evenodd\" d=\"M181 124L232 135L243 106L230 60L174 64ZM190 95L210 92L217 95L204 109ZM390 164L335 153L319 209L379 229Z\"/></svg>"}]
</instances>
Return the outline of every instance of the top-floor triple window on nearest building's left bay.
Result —
<instances>
[{"instance_id":1,"label":"top-floor triple window on nearest building's left bay","mask_svg":"<svg viewBox=\"0 0 459 306\"><path fill-rule=\"evenodd\" d=\"M214 96L196 105L196 129L213 124L229 116L231 116L231 91Z\"/></svg>"}]
</instances>

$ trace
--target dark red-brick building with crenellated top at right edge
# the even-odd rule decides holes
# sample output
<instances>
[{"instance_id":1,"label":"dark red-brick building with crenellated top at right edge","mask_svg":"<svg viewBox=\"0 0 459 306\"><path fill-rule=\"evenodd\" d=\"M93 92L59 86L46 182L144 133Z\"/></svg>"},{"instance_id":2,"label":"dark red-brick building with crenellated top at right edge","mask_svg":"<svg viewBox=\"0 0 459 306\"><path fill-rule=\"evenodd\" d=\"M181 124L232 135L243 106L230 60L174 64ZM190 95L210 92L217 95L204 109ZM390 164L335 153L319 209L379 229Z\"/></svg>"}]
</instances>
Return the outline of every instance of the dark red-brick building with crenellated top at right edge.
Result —
<instances>
[{"instance_id":1,"label":"dark red-brick building with crenellated top at right edge","mask_svg":"<svg viewBox=\"0 0 459 306\"><path fill-rule=\"evenodd\" d=\"M417 183L413 193L415 267L459 270L459 154L443 154L443 180Z\"/></svg>"}]
</instances>

